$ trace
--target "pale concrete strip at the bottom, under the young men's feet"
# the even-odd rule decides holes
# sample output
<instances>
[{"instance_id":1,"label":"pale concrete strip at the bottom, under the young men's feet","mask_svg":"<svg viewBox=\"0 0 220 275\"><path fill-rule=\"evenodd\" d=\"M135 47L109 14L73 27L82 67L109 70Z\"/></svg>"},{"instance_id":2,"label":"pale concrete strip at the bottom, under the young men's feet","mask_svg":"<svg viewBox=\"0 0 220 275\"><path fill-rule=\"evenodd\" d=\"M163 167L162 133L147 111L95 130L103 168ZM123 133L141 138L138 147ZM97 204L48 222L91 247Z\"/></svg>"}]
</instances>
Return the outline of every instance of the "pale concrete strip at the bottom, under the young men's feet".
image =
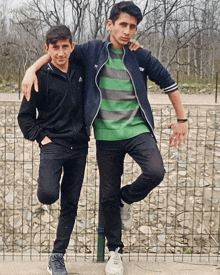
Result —
<instances>
[{"instance_id":1,"label":"pale concrete strip at the bottom, under the young men's feet","mask_svg":"<svg viewBox=\"0 0 220 275\"><path fill-rule=\"evenodd\" d=\"M0 263L1 275L48 275L46 261ZM104 275L105 263L67 262L68 275ZM214 263L148 263L124 261L124 275L220 275Z\"/></svg>"}]
</instances>

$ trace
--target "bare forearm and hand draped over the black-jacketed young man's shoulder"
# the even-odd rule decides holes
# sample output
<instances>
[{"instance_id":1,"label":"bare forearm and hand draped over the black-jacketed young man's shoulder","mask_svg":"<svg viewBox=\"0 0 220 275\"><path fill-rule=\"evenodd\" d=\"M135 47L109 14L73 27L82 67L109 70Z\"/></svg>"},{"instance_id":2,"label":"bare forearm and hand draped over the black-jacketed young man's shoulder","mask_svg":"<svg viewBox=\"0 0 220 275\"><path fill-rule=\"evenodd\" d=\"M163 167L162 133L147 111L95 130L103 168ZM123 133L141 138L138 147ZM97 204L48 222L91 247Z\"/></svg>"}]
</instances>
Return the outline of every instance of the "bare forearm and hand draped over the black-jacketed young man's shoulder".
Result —
<instances>
[{"instance_id":1,"label":"bare forearm and hand draped over the black-jacketed young man's shoulder","mask_svg":"<svg viewBox=\"0 0 220 275\"><path fill-rule=\"evenodd\" d=\"M33 84L34 84L35 91L38 91L38 82L37 82L36 72L43 65L47 64L50 60L51 60L50 56L48 54L45 54L42 57L40 57L37 61L35 61L34 64L31 67L29 67L25 72L25 75L21 84L21 89L28 101L31 98L31 88Z\"/></svg>"}]
</instances>

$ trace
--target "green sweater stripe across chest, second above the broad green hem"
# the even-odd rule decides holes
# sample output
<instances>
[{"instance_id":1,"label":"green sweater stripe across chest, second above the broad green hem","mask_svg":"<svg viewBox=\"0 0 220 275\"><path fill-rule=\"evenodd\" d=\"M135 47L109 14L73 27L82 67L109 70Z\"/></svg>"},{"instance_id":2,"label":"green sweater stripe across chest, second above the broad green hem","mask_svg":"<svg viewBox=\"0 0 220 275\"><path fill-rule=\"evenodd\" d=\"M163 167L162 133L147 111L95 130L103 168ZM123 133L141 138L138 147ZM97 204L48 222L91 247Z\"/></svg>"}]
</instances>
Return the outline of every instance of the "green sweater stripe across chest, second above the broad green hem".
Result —
<instances>
[{"instance_id":1,"label":"green sweater stripe across chest, second above the broad green hem","mask_svg":"<svg viewBox=\"0 0 220 275\"><path fill-rule=\"evenodd\" d=\"M133 85L130 80L112 79L104 76L100 77L99 87L101 89L116 90L116 91L133 91Z\"/></svg>"}]
</instances>

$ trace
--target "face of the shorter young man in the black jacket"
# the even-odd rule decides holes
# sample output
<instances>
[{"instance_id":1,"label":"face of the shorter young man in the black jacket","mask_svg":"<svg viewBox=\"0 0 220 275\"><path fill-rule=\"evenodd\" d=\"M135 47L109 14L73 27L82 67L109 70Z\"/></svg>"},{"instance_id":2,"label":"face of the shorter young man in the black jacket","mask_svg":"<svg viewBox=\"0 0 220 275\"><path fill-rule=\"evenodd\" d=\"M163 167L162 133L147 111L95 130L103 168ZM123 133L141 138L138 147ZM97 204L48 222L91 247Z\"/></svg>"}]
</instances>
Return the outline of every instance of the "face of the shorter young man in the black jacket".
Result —
<instances>
[{"instance_id":1,"label":"face of the shorter young man in the black jacket","mask_svg":"<svg viewBox=\"0 0 220 275\"><path fill-rule=\"evenodd\" d=\"M69 57L75 44L69 39L59 39L55 44L44 45L45 51L51 57L51 63L63 72L68 71Z\"/></svg>"}]
</instances>

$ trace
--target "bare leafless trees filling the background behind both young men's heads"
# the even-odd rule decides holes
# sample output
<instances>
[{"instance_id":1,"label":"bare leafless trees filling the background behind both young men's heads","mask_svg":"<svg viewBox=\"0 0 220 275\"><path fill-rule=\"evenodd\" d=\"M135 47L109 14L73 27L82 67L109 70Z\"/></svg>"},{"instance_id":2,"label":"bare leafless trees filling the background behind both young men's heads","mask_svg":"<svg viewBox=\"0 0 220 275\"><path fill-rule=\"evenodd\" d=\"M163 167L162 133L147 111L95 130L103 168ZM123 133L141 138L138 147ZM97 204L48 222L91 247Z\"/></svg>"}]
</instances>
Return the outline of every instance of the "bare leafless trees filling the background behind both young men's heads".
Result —
<instances>
[{"instance_id":1,"label":"bare leafless trees filling the background behind both young men's heads","mask_svg":"<svg viewBox=\"0 0 220 275\"><path fill-rule=\"evenodd\" d=\"M77 43L105 39L106 20L119 0L27 0L13 17L0 0L0 73L2 64L24 69L43 54L44 36L56 24L70 27ZM219 0L134 0L143 12L136 39L169 70L213 77L220 64ZM10 62L9 62L10 61ZM8 70L9 72L10 70ZM8 73L10 75L10 73Z\"/></svg>"}]
</instances>

